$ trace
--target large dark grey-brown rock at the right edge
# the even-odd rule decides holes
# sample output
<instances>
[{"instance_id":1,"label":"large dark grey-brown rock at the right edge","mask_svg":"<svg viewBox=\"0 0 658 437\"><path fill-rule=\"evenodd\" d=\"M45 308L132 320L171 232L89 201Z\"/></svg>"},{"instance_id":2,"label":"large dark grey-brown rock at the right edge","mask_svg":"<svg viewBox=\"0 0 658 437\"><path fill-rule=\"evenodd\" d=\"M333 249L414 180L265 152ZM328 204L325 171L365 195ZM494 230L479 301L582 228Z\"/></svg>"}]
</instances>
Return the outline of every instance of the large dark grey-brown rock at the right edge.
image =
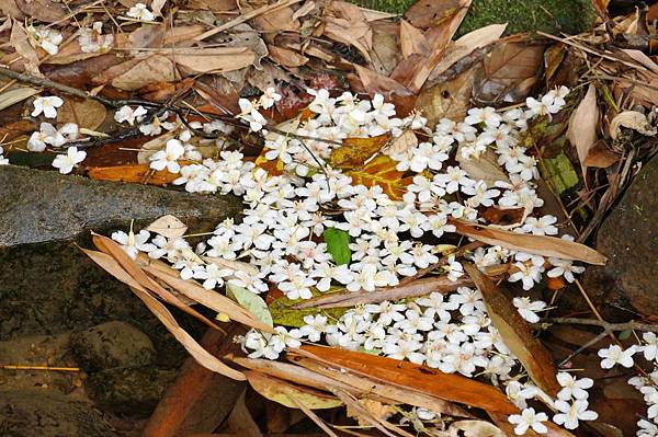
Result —
<instances>
[{"instance_id":1,"label":"large dark grey-brown rock at the right edge","mask_svg":"<svg viewBox=\"0 0 658 437\"><path fill-rule=\"evenodd\" d=\"M609 257L604 266L589 267L585 286L609 318L658 313L658 159L654 158L605 219L597 250Z\"/></svg>"}]
</instances>

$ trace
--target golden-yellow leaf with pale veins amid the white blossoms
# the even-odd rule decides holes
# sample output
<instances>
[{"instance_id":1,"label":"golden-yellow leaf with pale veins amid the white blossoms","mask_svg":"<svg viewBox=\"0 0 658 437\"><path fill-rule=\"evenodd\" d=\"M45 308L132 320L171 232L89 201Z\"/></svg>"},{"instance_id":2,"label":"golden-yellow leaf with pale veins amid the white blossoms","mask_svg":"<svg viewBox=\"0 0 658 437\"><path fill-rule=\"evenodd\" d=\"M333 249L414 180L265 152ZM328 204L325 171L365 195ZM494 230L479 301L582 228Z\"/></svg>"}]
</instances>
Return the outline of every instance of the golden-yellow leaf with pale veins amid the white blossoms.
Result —
<instances>
[{"instance_id":1,"label":"golden-yellow leaf with pale veins amid the white blossoms","mask_svg":"<svg viewBox=\"0 0 658 437\"><path fill-rule=\"evenodd\" d=\"M402 179L405 172L400 172L395 165L396 162L393 159L379 154L362 169L349 171L348 175L352 176L352 183L355 185L361 184L367 187L379 185L388 197L399 200L412 180L411 177Z\"/></svg>"}]
</instances>

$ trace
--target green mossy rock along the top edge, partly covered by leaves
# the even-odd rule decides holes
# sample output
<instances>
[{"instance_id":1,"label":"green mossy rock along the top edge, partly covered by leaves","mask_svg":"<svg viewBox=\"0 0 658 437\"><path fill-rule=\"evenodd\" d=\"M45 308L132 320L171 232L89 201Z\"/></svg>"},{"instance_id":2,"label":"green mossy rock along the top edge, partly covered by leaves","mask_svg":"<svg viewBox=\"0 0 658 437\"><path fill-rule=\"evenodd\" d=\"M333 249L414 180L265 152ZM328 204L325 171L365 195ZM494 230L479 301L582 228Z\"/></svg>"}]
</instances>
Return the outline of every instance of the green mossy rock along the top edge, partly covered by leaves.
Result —
<instances>
[{"instance_id":1,"label":"green mossy rock along the top edge, partly covered by leaves","mask_svg":"<svg viewBox=\"0 0 658 437\"><path fill-rule=\"evenodd\" d=\"M364 8L404 14L417 0L352 0ZM507 34L547 32L577 34L591 28L590 0L473 0L457 35L488 24L509 23Z\"/></svg>"}]
</instances>

